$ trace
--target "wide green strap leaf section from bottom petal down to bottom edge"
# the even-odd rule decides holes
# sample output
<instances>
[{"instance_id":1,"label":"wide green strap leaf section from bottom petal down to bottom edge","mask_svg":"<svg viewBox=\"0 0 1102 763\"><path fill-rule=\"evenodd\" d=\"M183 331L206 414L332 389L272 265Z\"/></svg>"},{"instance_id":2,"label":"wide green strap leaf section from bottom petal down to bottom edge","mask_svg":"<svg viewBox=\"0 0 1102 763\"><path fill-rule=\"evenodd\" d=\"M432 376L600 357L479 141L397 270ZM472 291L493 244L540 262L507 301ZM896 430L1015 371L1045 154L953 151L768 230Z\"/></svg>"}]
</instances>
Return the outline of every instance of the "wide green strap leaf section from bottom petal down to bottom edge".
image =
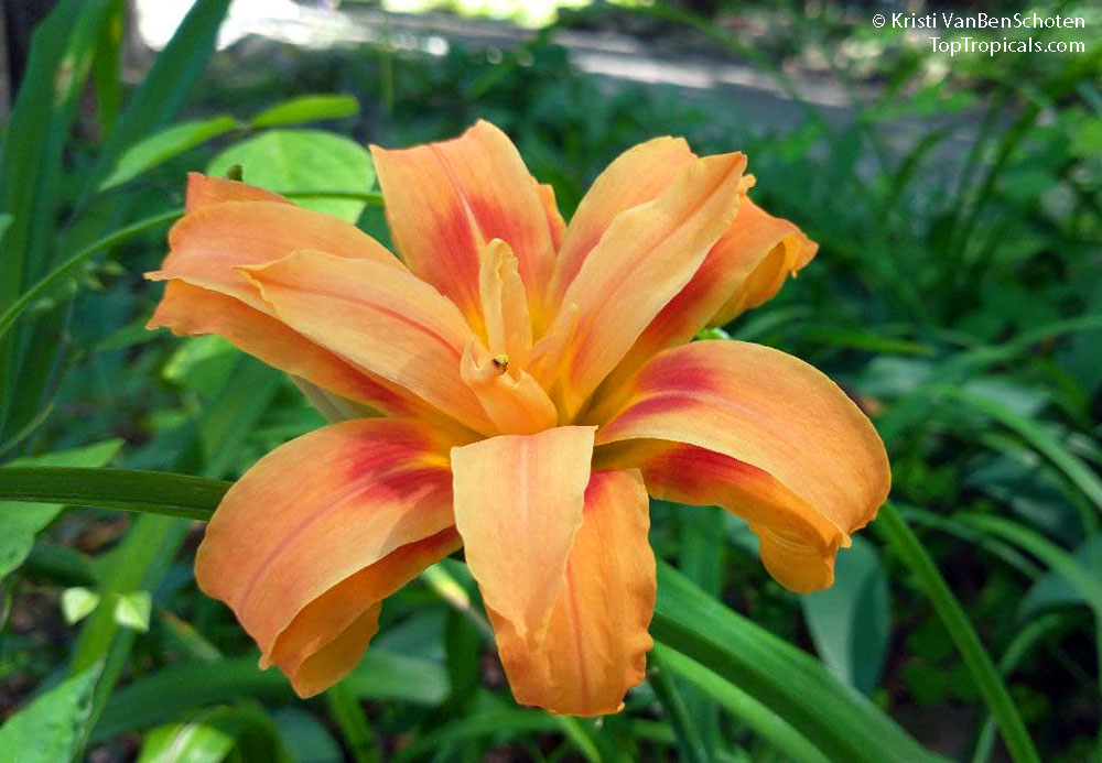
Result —
<instances>
[{"instance_id":1,"label":"wide green strap leaf section from bottom petal down to bottom edge","mask_svg":"<svg viewBox=\"0 0 1102 763\"><path fill-rule=\"evenodd\" d=\"M933 759L819 661L727 609L662 563L650 632L748 694L831 760Z\"/></svg>"}]
</instances>

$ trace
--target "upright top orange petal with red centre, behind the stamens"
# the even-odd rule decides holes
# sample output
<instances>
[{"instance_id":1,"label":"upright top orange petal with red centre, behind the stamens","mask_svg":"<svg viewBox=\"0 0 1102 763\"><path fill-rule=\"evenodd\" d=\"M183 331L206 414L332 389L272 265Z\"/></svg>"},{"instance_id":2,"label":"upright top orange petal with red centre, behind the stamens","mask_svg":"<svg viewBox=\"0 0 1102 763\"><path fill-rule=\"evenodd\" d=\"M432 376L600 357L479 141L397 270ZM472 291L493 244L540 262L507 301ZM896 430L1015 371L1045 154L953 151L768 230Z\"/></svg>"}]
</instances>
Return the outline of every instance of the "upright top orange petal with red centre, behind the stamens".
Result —
<instances>
[{"instance_id":1,"label":"upright top orange petal with red centre, behind the stamens","mask_svg":"<svg viewBox=\"0 0 1102 763\"><path fill-rule=\"evenodd\" d=\"M479 121L461 137L412 149L371 146L391 237L410 269L482 329L478 265L493 239L517 255L533 313L554 251L536 179L508 135Z\"/></svg>"}]
</instances>

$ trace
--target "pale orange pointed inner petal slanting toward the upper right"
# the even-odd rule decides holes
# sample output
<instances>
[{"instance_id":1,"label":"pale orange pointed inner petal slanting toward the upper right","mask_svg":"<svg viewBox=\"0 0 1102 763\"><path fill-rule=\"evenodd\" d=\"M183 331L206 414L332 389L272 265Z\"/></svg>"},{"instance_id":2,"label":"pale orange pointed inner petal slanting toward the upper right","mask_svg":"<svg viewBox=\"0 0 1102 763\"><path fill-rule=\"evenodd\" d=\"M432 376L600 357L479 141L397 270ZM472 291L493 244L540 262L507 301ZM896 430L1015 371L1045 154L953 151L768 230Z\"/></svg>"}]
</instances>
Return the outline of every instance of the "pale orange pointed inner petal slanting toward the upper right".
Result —
<instances>
[{"instance_id":1,"label":"pale orange pointed inner petal slanting toward the upper right","mask_svg":"<svg viewBox=\"0 0 1102 763\"><path fill-rule=\"evenodd\" d=\"M563 304L579 307L560 372L568 417L689 283L731 226L745 167L739 153L692 160L657 199L620 212L585 258L563 297ZM568 317L560 313L557 323ZM548 335L554 336L555 328Z\"/></svg>"}]
</instances>

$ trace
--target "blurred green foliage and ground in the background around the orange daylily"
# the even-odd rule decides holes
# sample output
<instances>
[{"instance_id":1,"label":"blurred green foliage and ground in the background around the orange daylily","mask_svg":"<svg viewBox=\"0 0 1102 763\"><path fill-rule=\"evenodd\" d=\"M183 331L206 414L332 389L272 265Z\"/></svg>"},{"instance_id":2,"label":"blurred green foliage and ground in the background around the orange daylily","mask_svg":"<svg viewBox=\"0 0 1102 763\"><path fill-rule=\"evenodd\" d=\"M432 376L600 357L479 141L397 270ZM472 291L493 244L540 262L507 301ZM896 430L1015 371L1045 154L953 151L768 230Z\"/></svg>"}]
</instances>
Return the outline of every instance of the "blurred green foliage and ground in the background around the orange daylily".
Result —
<instances>
[{"instance_id":1,"label":"blurred green foliage and ground in the background around the orange daylily","mask_svg":"<svg viewBox=\"0 0 1102 763\"><path fill-rule=\"evenodd\" d=\"M1085 29L1033 35L1083 41L1084 53L950 58L931 53L925 34L873 28L873 13L995 12L986 3L572 2L560 4L581 7L555 13L554 3L391 0L383 9L251 3L263 8L250 15L239 2L227 25L237 33L224 28L207 62L220 13L208 3L214 22L193 14L196 40L162 54L177 57L161 64L161 84L137 89L147 73L158 76L138 30L160 13L171 32L173 3L102 4L115 23L95 26L108 42L89 37L93 53L74 59L88 85L71 88L68 118L50 112L34 140L33 128L7 131L4 209L14 222L6 262L30 253L19 283L181 205L184 173L212 163L274 152L289 167L270 181L282 189L370 179L347 141L329 139L334 168L304 129L404 145L486 118L554 185L568 216L597 172L641 140L679 134L701 153L741 149L758 203L821 249L777 298L714 334L810 361L873 416L893 459L893 500L1005 674L1044 760L1099 754L1096 4L998 3L1011 14L1082 17ZM392 12L429 4L444 11ZM7 19L9 40L25 33ZM42 81L33 58L28 72L23 88L64 100L67 80ZM17 63L9 74L18 79ZM248 122L312 94L345 98L315 111L296 101L290 118ZM141 106L138 117L128 103ZM20 166L28 145L44 159ZM246 181L264 179L262 162L242 163ZM36 183L33 198L12 185L20 177ZM40 209L41 195L55 200ZM377 207L336 204L387 240ZM22 227L21 209L31 219ZM0 458L65 451L58 464L233 479L322 423L281 374L220 340L142 328L159 290L140 274L163 255L163 230L83 261L22 316L4 368ZM23 291L12 277L9 296ZM292 701L279 676L255 668L229 612L197 593L201 527L169 522L91 509L0 515L0 557L11 559L2 565L0 716L106 655L112 677L95 689L89 760L174 760L156 755L183 728L217 731L214 760L592 759L593 733L605 739L601 754L687 755L683 729L649 684L596 732L511 710L491 644L423 582L393 598L343 693ZM818 654L922 743L958 760L1006 756L952 634L883 528L840 556L834 589L799 597L768 578L753 537L719 510L656 504L652 524L662 558ZM451 571L464 581L462 567ZM680 688L707 759L786 757ZM364 715L349 715L349 704Z\"/></svg>"}]
</instances>

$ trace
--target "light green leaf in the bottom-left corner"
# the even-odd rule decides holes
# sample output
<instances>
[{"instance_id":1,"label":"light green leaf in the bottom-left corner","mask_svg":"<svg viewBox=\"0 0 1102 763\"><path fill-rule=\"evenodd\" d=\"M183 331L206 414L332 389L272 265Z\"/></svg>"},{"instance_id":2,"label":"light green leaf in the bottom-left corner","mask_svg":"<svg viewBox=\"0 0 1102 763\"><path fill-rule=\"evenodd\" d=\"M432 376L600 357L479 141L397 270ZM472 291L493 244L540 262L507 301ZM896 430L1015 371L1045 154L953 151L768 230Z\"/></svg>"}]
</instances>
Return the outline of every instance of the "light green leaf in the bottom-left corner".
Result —
<instances>
[{"instance_id":1,"label":"light green leaf in the bottom-left corner","mask_svg":"<svg viewBox=\"0 0 1102 763\"><path fill-rule=\"evenodd\" d=\"M76 756L95 668L50 689L0 728L0 763L60 763Z\"/></svg>"}]
</instances>

